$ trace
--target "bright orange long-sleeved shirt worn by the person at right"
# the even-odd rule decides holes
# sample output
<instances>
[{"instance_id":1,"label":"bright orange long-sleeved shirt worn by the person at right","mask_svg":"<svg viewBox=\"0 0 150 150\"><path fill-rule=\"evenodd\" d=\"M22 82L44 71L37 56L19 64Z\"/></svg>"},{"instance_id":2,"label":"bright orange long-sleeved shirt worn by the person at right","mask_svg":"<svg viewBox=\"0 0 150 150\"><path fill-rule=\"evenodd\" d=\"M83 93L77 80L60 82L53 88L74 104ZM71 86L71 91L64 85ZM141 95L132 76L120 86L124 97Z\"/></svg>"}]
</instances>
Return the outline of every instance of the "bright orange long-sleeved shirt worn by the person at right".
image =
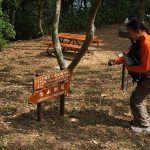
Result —
<instances>
[{"instance_id":1,"label":"bright orange long-sleeved shirt worn by the person at right","mask_svg":"<svg viewBox=\"0 0 150 150\"><path fill-rule=\"evenodd\" d=\"M138 66L126 66L128 71L144 73L147 75L150 72L150 35L144 33L143 37L140 40L140 58L141 65ZM117 64L122 64L124 58L120 57L117 60Z\"/></svg>"}]
</instances>

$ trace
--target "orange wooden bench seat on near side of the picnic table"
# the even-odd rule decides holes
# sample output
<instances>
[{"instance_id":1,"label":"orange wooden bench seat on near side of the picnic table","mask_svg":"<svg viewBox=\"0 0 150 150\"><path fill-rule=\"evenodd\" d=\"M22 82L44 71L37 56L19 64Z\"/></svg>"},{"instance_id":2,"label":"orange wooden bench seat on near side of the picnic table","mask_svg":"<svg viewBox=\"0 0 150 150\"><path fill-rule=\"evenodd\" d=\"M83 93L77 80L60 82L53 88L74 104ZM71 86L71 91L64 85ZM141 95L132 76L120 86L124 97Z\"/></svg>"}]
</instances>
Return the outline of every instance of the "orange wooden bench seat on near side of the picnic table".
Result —
<instances>
[{"instance_id":1,"label":"orange wooden bench seat on near side of the picnic table","mask_svg":"<svg viewBox=\"0 0 150 150\"><path fill-rule=\"evenodd\" d=\"M49 47L53 46L53 42L52 41L48 41L48 42L45 42L45 44L48 45L47 53L49 55L51 55L52 52L49 51ZM60 46L63 47L64 49L65 48L69 48L70 50L73 50L73 51L78 51L81 48L80 45L73 45L73 44L67 44L67 43L60 43Z\"/></svg>"}]
</instances>

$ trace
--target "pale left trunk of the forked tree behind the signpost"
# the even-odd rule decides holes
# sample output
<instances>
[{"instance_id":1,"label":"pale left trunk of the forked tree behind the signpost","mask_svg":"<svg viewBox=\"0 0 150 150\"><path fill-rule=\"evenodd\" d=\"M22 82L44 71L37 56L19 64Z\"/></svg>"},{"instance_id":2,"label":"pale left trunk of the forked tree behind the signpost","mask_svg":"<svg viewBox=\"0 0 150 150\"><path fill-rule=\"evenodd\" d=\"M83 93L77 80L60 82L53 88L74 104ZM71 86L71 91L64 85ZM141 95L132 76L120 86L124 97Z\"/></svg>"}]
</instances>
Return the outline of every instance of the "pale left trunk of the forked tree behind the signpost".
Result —
<instances>
[{"instance_id":1,"label":"pale left trunk of the forked tree behind the signpost","mask_svg":"<svg viewBox=\"0 0 150 150\"><path fill-rule=\"evenodd\" d=\"M54 50L56 52L56 57L60 68L66 68L65 59L61 50L60 41L58 38L58 26L59 26L59 16L60 16L61 0L56 0L56 10L53 22L52 40L54 43Z\"/></svg>"}]
</instances>

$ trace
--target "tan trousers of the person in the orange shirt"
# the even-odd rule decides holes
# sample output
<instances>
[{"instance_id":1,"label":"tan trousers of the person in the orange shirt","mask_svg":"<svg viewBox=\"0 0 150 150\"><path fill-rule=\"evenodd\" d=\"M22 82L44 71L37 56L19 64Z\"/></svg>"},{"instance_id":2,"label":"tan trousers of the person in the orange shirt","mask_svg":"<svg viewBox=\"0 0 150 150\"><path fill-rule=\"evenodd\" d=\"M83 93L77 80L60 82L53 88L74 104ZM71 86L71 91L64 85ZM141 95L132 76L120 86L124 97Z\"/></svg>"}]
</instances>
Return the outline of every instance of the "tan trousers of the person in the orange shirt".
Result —
<instances>
[{"instance_id":1,"label":"tan trousers of the person in the orange shirt","mask_svg":"<svg viewBox=\"0 0 150 150\"><path fill-rule=\"evenodd\" d=\"M130 97L130 107L136 123L142 126L150 126L149 116L143 103L150 94L150 78L145 77L136 87Z\"/></svg>"}]
</instances>

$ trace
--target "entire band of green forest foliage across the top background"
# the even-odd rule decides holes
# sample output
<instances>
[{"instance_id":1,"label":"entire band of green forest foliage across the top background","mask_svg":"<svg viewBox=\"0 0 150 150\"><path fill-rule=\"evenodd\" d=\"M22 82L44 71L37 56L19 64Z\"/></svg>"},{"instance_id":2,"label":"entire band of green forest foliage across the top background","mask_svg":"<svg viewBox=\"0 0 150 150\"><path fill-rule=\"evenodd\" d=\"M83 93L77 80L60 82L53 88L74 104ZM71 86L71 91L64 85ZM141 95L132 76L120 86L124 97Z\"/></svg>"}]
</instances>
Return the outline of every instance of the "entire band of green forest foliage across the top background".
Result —
<instances>
[{"instance_id":1,"label":"entire band of green forest foliage across the top background","mask_svg":"<svg viewBox=\"0 0 150 150\"><path fill-rule=\"evenodd\" d=\"M55 9L55 0L41 0L44 2L42 11L42 28L44 34L52 34L52 23ZM0 3L2 0L0 0ZM68 2L68 5L66 4ZM59 21L59 32L79 32L86 31L90 5L93 0L87 0L87 9L81 8L81 1L75 0L72 13L72 7L69 1L62 1L61 15ZM63 4L64 3L64 4ZM38 25L40 0L7 0L3 1L3 10L0 14L0 32L1 38L14 38L15 32L9 20L16 31L16 40L32 39L41 36ZM139 0L102 0L100 8L95 19L95 26L100 27L105 24L123 22L126 17L132 14L139 14ZM146 1L146 13L150 13L150 0ZM7 15L6 15L7 14ZM5 43L1 40L1 43ZM3 45L3 44L2 44Z\"/></svg>"}]
</instances>

